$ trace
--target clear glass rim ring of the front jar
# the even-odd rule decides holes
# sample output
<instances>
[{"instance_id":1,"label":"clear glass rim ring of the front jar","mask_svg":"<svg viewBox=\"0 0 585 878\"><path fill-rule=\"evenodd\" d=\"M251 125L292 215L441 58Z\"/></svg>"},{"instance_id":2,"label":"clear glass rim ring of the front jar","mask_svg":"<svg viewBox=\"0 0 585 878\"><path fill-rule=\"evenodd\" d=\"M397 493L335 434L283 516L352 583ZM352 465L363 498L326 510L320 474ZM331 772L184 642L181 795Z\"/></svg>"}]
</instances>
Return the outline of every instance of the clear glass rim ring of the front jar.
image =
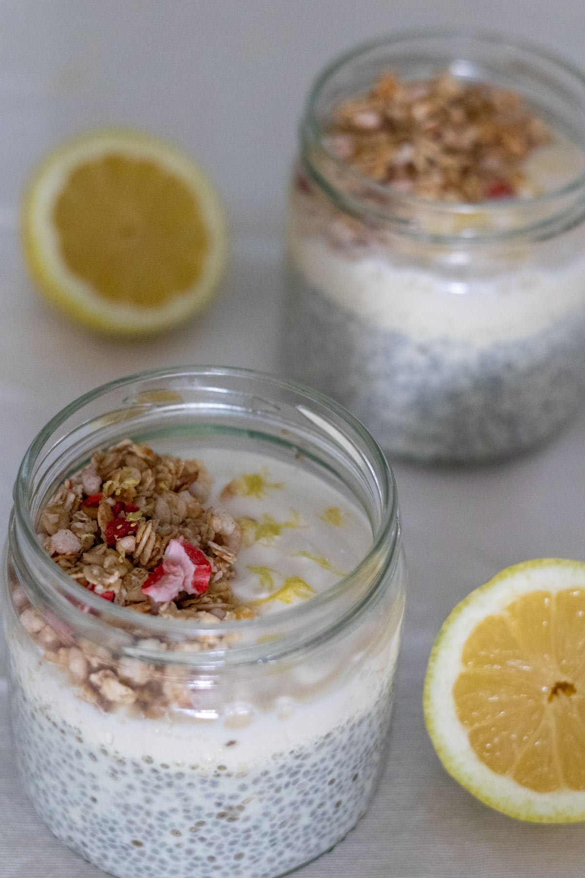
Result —
<instances>
[{"instance_id":1,"label":"clear glass rim ring of the front jar","mask_svg":"<svg viewBox=\"0 0 585 878\"><path fill-rule=\"evenodd\" d=\"M381 474L380 501L382 515L378 526L373 533L372 544L367 551L367 555L361 559L360 564L353 568L353 571L349 572L342 579L339 579L339 581L332 587L325 589L325 591L311 598L310 601L305 601L296 606L279 609L274 614L260 615L253 619L220 622L218 624L194 624L188 620L161 618L156 615L137 613L136 610L133 610L132 608L121 607L111 603L108 603L107 607L104 607L103 605L106 602L103 601L99 595L89 592L88 589L75 582L75 579L71 579L66 572L62 571L61 568L54 563L54 560L46 553L45 549L39 543L36 523L33 520L31 511L33 493L32 478L35 472L35 464L39 459L39 455L46 447L47 441L51 441L53 437L54 443L57 443L61 439L59 431L63 424L65 424L73 414L78 413L83 407L88 406L90 403L108 392L121 390L126 387L130 388L132 385L135 385L137 381L194 376L197 378L211 379L227 377L250 380L258 378L268 385L273 386L275 390L282 389L284 391L302 394L303 399L306 400L308 406L311 403L314 403L317 407L326 407L332 414L335 414L346 423L349 431L359 437L363 448L363 457L367 460L370 471L373 471L373 468L375 468ZM347 441L349 442L350 440ZM370 461L372 462L371 464L369 463ZM242 634L254 634L257 632L261 637L281 623L289 623L297 626L302 625L305 621L308 622L311 616L316 615L318 612L322 611L323 608L326 608L328 604L333 606L334 601L337 598L351 591L354 585L360 580L361 576L367 575L371 578L371 570L370 572L367 572L367 569L371 568L373 559L376 555L379 555L381 551L386 553L387 563L380 575L376 577L372 586L373 589L375 589L376 585L382 580L383 576L388 571L388 568L396 562L396 550L399 536L396 481L382 450L375 442L374 438L369 435L366 428L360 424L360 421L357 421L357 419L347 412L346 409L339 406L331 399L328 399L325 395L287 379L275 378L268 373L260 371L217 366L185 366L166 370L144 371L125 378L118 378L115 381L111 381L108 384L97 387L93 391L85 393L71 402L67 407L61 409L61 412L54 415L54 418L52 418L52 420L46 424L46 427L40 430L39 434L33 439L28 450L26 450L25 457L18 469L18 475L13 490L13 498L13 526L11 527L10 535L12 554L15 557L18 556L18 543L20 542L20 536L22 536L22 543L25 546L26 551L32 552L35 563L39 565L39 569L47 574L49 581L51 579L54 580L55 586L52 587L52 593L56 595L61 592L61 594L66 596L66 604L67 608L70 608L71 617L79 618L83 615L84 621L87 623L88 614L84 613L81 608L75 606L75 602L81 602L85 607L95 610L98 614L91 616L92 621L95 620L96 624L102 624L109 629L141 629L143 632L147 631L148 634L152 636L170 636L171 639L175 640L177 639L177 636L221 636L237 634L238 632ZM18 536L16 535L16 532L18 532ZM65 604L62 601L61 607L65 608ZM354 608L354 605L352 605L352 608ZM114 624L110 624L108 620L111 620L111 623ZM332 614L332 626L338 621L338 617ZM225 651L225 648L222 651ZM231 651L231 648L227 648L226 651ZM203 657L211 657L212 651L204 652L201 655Z\"/></svg>"}]
</instances>

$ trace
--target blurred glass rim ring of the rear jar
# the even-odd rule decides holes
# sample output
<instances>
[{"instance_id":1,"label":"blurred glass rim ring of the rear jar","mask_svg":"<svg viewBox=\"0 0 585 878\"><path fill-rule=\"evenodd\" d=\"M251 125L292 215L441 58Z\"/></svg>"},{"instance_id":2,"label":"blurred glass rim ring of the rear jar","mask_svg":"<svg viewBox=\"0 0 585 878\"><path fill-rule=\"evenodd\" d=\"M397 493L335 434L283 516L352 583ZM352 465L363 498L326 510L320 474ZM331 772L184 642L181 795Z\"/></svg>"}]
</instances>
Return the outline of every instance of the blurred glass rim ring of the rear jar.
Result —
<instances>
[{"instance_id":1,"label":"blurred glass rim ring of the rear jar","mask_svg":"<svg viewBox=\"0 0 585 878\"><path fill-rule=\"evenodd\" d=\"M360 173L360 171L354 168L349 162L346 162L346 160L339 157L339 155L335 155L331 149L327 148L324 142L324 128L321 119L319 119L317 109L319 98L323 95L326 87L332 83L332 80L334 80L336 76L343 73L346 68L349 68L353 62L359 61L367 54L378 51L382 52L384 49L387 49L390 52L392 49L399 48L403 44L414 40L422 41L422 43L426 44L429 48L432 48L433 41L436 40L460 40L461 42L466 42L475 47L508 49L512 52L517 50L518 52L525 54L536 64L539 62L545 62L550 65L551 68L553 68L553 71L569 78L582 92L581 100L584 114L583 131L581 132L580 141L575 145L581 148L585 153L585 75L581 73L579 68L572 65L569 61L566 61L564 58L561 58L556 54L543 50L541 47L533 45L530 42L524 40L509 40L503 35L497 33L474 30L432 31L421 29L405 31L397 33L396 35L387 35L380 39L360 43L357 47L353 47L345 53L340 54L323 69L310 89L309 96L305 102L301 124L299 126L299 140L303 160L308 166L310 176L313 177L314 181L323 188L327 194L332 196L334 200L337 200L338 198L340 201L345 200L346 204L350 205L350 207L353 206L353 210L356 211L360 210L361 205L362 210L371 213L377 219L396 219L396 215L391 209L387 210L380 208L376 210L375 207L365 200L351 197L346 198L342 192L336 190L336 187L328 181L326 174L323 174L318 169L319 159L325 159L325 161L330 163L332 167L339 169L339 171L351 180L353 184L359 185L364 191L368 191L375 197L386 198L387 200L392 199L392 202L396 205L409 205L410 208L418 207L421 210L441 212L443 215L451 214L464 216L466 214L482 212L486 215L502 216L504 213L516 211L518 208L523 208L526 209L527 212L530 212L531 208L537 206L545 208L547 205L550 205L550 209L554 210L555 203L562 201L564 198L579 196L580 194L585 197L585 169L583 169L580 173L571 177L566 183L560 186L552 187L545 192L536 193L534 195L522 196L521 198L506 197L480 202L446 201L439 198L427 198L417 195L416 193L401 191L393 184L380 184L373 178ZM456 60L456 55L453 54L452 62ZM391 66L392 61L389 59L386 64L386 69ZM381 64L378 68L380 72L382 72L382 68ZM315 158L317 161L315 161ZM547 220L543 221L543 223L534 223L530 226L527 225L523 227L521 231L526 232L538 230L539 226L545 225L546 222ZM509 233L496 232L494 234L483 235L483 237L499 238L506 236L506 234ZM444 239L449 237L460 240L461 238L466 238L467 234L439 234L429 235L428 237L432 239ZM469 237L474 237L474 235L469 235Z\"/></svg>"}]
</instances>

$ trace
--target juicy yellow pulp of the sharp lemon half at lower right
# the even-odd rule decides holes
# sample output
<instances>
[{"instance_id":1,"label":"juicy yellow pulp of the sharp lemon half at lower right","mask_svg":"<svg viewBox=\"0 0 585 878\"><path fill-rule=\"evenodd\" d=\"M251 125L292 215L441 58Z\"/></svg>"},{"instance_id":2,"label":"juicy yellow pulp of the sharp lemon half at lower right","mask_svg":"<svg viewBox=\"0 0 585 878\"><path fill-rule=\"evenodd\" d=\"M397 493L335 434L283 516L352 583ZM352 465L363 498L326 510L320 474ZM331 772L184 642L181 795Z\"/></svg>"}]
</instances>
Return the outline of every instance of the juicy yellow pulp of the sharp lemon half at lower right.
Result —
<instances>
[{"instance_id":1,"label":"juicy yellow pulp of the sharp lemon half at lower right","mask_svg":"<svg viewBox=\"0 0 585 878\"><path fill-rule=\"evenodd\" d=\"M453 697L482 762L536 792L585 790L585 588L539 591L475 627Z\"/></svg>"}]
</instances>

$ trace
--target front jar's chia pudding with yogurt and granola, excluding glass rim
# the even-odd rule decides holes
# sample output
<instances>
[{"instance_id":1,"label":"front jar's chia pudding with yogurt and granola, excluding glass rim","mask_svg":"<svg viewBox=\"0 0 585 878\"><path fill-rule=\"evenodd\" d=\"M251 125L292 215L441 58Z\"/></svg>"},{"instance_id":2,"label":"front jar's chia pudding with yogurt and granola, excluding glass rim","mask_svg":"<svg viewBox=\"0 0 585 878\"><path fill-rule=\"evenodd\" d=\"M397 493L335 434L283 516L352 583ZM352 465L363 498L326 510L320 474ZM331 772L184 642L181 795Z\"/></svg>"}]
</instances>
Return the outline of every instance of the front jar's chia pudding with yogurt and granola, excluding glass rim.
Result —
<instances>
[{"instance_id":1,"label":"front jar's chia pudding with yogurt and granola, excluding glass rim","mask_svg":"<svg viewBox=\"0 0 585 878\"><path fill-rule=\"evenodd\" d=\"M39 506L68 612L35 600L9 554L18 760L39 816L110 874L275 878L344 838L375 792L403 562L391 596L324 637L322 600L371 554L364 509L294 455L191 449L118 443Z\"/></svg>"}]
</instances>

